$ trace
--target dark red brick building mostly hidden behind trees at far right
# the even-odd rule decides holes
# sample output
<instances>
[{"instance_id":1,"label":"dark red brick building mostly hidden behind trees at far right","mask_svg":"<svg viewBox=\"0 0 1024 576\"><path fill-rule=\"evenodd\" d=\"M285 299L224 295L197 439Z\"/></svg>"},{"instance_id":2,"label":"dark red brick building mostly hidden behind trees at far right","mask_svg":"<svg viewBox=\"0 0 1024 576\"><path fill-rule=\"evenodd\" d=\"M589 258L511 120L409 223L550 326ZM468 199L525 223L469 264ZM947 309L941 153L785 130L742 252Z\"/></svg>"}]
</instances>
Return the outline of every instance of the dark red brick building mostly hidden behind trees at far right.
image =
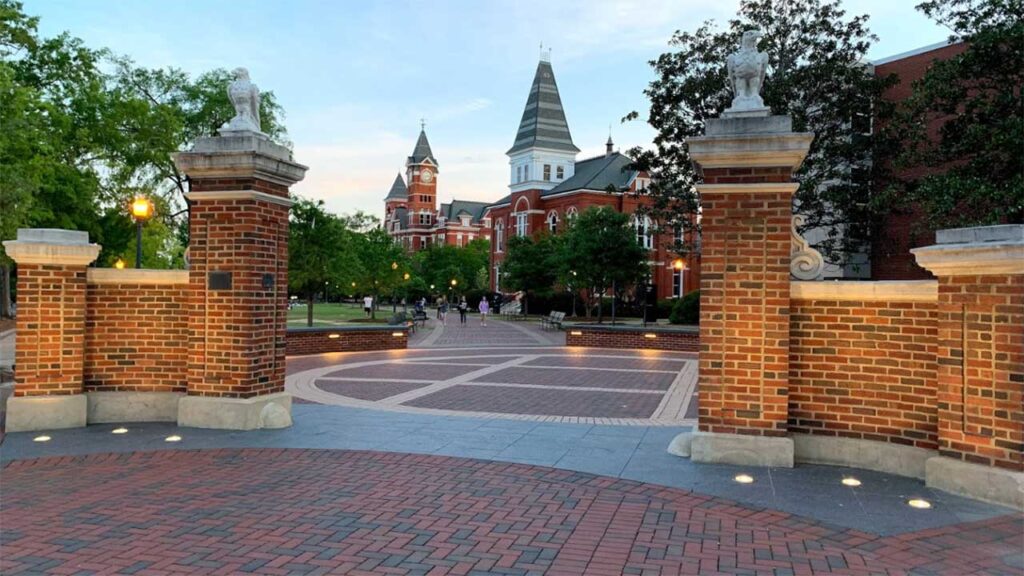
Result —
<instances>
[{"instance_id":1,"label":"dark red brick building mostly hidden behind trees at far right","mask_svg":"<svg viewBox=\"0 0 1024 576\"><path fill-rule=\"evenodd\" d=\"M935 60L953 57L967 49L963 42L941 42L924 46L909 52L876 60L874 74L886 77L895 74L899 83L883 93L882 97L891 102L900 102L912 93L913 83L925 76ZM929 133L937 134L941 119L932 120ZM885 161L883 159L882 161ZM899 171L900 178L918 178L934 173L935 169L910 168ZM873 280L923 280L933 278L918 265L911 248L935 243L934 230L922 230L919 214L914 212L891 213L887 216L881 232L871 245L871 278Z\"/></svg>"}]
</instances>

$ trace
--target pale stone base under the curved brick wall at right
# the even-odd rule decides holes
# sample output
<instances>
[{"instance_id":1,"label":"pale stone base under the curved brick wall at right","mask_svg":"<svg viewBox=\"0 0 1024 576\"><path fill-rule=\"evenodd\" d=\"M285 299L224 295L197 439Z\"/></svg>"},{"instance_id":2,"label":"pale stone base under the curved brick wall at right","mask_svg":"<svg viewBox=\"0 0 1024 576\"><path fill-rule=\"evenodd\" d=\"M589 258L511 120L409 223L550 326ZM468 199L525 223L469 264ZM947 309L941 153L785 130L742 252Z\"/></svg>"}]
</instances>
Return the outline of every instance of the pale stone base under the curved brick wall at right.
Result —
<instances>
[{"instance_id":1,"label":"pale stone base under the curved brick wall at right","mask_svg":"<svg viewBox=\"0 0 1024 576\"><path fill-rule=\"evenodd\" d=\"M791 435L798 462L853 466L910 478L925 478L925 461L935 450L888 442L834 436Z\"/></svg>"}]
</instances>

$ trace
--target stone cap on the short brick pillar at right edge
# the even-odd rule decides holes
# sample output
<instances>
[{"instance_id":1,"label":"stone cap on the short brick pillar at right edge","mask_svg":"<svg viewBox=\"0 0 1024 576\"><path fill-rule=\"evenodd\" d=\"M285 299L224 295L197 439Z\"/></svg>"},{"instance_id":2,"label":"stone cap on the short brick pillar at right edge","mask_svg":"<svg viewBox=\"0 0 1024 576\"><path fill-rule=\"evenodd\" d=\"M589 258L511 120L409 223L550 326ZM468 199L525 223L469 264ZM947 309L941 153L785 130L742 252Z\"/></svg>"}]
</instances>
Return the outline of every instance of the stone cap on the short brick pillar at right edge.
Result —
<instances>
[{"instance_id":1,"label":"stone cap on the short brick pillar at right edge","mask_svg":"<svg viewBox=\"0 0 1024 576\"><path fill-rule=\"evenodd\" d=\"M940 230L935 239L910 250L935 276L1024 275L1024 224Z\"/></svg>"}]
</instances>

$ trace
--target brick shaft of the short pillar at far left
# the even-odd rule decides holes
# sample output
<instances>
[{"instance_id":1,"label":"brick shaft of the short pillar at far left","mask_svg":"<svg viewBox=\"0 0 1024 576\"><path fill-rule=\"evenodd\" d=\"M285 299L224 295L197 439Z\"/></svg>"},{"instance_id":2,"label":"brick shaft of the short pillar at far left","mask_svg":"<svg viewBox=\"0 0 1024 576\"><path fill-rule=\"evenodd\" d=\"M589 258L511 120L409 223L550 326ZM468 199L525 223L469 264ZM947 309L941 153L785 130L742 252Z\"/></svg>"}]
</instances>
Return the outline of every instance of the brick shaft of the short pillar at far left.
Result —
<instances>
[{"instance_id":1,"label":"brick shaft of the short pillar at far left","mask_svg":"<svg viewBox=\"0 0 1024 576\"><path fill-rule=\"evenodd\" d=\"M14 396L82 392L84 264L18 264L14 337Z\"/></svg>"}]
</instances>

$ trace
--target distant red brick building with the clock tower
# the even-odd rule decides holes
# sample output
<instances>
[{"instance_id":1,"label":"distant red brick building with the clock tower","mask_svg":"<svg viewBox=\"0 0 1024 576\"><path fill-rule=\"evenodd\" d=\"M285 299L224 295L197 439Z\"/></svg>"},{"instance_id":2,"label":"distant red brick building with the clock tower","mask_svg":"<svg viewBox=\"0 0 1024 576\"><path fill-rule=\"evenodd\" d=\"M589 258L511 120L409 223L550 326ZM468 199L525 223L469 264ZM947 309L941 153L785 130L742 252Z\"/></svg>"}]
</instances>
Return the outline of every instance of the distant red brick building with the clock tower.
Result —
<instances>
[{"instance_id":1,"label":"distant red brick building with the clock tower","mask_svg":"<svg viewBox=\"0 0 1024 576\"><path fill-rule=\"evenodd\" d=\"M421 129L413 155L406 161L406 177L396 175L384 199L388 233L410 251L432 245L464 246L477 238L489 240L485 202L452 200L437 208L437 159Z\"/></svg>"}]
</instances>

